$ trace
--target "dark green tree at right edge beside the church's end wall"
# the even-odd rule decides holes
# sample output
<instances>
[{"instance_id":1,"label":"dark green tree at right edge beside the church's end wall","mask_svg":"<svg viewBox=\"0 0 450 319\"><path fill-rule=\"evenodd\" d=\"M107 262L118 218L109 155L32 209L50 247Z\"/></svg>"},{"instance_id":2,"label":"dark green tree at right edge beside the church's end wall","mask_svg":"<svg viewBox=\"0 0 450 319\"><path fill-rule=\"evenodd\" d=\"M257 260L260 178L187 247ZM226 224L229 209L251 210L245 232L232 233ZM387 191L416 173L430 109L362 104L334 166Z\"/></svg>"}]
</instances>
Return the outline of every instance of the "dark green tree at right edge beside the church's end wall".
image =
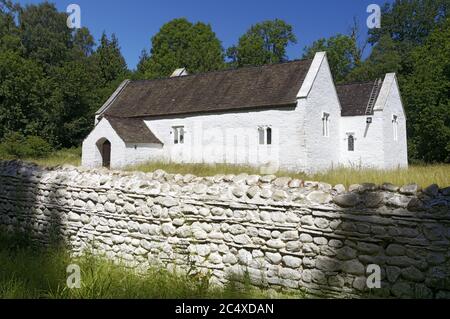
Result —
<instances>
[{"instance_id":1,"label":"dark green tree at right edge beside the church's end wall","mask_svg":"<svg viewBox=\"0 0 450 319\"><path fill-rule=\"evenodd\" d=\"M450 162L450 18L411 54L414 71L402 81L412 157Z\"/></svg>"}]
</instances>

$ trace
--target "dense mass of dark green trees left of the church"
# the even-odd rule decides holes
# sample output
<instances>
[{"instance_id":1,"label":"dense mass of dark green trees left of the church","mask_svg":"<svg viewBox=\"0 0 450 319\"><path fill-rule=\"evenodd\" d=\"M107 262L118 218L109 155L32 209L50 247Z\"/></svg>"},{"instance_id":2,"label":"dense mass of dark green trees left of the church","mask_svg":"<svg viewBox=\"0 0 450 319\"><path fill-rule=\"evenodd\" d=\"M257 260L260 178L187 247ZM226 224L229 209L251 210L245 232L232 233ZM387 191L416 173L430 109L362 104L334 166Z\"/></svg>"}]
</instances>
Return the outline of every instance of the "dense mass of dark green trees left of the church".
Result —
<instances>
[{"instance_id":1,"label":"dense mass of dark green trees left of the church","mask_svg":"<svg viewBox=\"0 0 450 319\"><path fill-rule=\"evenodd\" d=\"M19 132L54 147L79 145L129 75L114 35L95 48L89 30L71 31L66 19L47 2L0 0L0 140Z\"/></svg>"}]
</instances>

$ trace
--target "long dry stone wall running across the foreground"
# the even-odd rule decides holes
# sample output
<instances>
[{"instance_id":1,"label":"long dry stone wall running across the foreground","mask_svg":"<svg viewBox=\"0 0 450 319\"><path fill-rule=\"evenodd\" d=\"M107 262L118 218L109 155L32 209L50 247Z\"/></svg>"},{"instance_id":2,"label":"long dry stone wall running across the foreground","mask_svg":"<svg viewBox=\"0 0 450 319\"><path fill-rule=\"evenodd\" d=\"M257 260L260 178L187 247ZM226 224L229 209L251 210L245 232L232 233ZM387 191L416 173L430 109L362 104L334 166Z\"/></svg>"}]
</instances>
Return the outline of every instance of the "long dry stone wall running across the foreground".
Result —
<instances>
[{"instance_id":1,"label":"long dry stone wall running across the foreground","mask_svg":"<svg viewBox=\"0 0 450 319\"><path fill-rule=\"evenodd\" d=\"M321 296L450 298L450 188L0 162L0 225L133 265ZM366 285L381 267L381 288Z\"/></svg>"}]
</instances>

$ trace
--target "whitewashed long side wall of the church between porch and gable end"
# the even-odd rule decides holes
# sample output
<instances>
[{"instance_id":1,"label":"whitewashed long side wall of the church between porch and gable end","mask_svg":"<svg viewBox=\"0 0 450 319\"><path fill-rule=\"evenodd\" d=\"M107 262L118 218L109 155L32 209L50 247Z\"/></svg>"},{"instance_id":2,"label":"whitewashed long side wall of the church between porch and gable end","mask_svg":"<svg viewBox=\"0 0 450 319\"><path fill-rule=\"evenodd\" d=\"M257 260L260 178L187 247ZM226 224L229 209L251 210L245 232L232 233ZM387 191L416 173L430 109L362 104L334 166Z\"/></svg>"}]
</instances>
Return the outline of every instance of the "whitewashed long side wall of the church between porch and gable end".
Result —
<instances>
[{"instance_id":1,"label":"whitewashed long side wall of the church between porch and gable end","mask_svg":"<svg viewBox=\"0 0 450 319\"><path fill-rule=\"evenodd\" d=\"M189 114L145 122L164 143L165 160L299 168L301 148L296 133L300 118L293 107ZM177 126L184 127L184 144L174 144L173 127ZM259 144L259 126L272 128L272 145Z\"/></svg>"}]
</instances>

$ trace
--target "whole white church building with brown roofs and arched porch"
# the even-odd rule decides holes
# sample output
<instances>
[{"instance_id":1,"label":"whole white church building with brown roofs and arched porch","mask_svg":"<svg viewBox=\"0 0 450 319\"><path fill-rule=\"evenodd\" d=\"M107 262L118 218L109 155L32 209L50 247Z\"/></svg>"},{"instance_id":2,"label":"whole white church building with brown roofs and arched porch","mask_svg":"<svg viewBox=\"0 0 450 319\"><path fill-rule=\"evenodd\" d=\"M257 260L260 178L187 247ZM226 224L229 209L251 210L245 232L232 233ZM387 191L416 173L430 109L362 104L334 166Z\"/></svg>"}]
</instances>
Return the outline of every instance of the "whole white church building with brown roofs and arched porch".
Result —
<instances>
[{"instance_id":1,"label":"whole white church building with brown roofs and arched porch","mask_svg":"<svg viewBox=\"0 0 450 319\"><path fill-rule=\"evenodd\" d=\"M83 142L85 167L228 163L315 172L406 167L406 117L395 74L334 84L313 59L124 81Z\"/></svg>"}]
</instances>

